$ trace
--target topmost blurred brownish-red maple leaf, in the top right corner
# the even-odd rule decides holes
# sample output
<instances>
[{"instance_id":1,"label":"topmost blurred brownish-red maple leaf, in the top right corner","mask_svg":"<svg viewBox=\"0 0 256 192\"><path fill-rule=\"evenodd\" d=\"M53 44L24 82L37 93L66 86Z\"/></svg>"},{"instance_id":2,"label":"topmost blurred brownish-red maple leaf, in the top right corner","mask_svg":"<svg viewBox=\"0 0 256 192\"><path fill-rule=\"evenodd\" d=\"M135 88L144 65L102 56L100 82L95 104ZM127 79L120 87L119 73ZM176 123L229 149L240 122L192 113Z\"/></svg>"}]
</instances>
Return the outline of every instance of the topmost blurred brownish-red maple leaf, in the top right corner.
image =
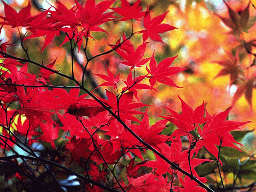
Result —
<instances>
[{"instance_id":1,"label":"topmost blurred brownish-red maple leaf, in the top right corner","mask_svg":"<svg viewBox=\"0 0 256 192\"><path fill-rule=\"evenodd\" d=\"M249 23L249 5L244 10L240 10L238 13L230 8L230 6L223 0L223 2L228 7L229 18L223 18L216 14L222 22L231 28L230 34L240 35L243 31L247 32L252 27L252 24Z\"/></svg>"}]
</instances>

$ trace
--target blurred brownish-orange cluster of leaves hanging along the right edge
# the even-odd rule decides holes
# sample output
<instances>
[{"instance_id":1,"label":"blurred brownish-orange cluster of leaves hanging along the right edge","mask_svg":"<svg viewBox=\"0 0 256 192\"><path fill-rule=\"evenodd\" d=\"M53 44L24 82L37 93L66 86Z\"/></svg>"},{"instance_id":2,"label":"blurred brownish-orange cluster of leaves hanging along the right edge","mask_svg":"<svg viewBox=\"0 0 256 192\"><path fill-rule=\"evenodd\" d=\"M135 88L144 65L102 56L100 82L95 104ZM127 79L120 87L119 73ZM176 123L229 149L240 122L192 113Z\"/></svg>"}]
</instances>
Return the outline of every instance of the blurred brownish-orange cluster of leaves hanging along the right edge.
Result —
<instances>
[{"instance_id":1,"label":"blurred brownish-orange cluster of leaves hanging along the right edge","mask_svg":"<svg viewBox=\"0 0 256 192\"><path fill-rule=\"evenodd\" d=\"M228 52L227 54L229 59L216 61L218 64L224 66L216 77L230 75L230 86L232 84L237 85L232 105L234 105L235 102L244 94L247 102L252 107L252 92L253 89L256 88L256 75L254 72L256 54L252 53L252 48L256 47L256 44L254 43L255 39L248 41L244 39L243 35L244 32L248 33L248 30L255 24L254 18L250 18L249 14L249 7L252 2L249 1L246 8L238 10L237 12L234 11L227 2L223 2L228 8L229 17L223 18L222 16L217 16L228 28L231 29L229 34L231 34L233 36L232 38L240 44L237 48L233 48L234 50L236 49L235 55ZM255 7L253 4L252 6ZM249 57L254 57L251 64L248 64L247 61L244 62L239 57L241 54L244 54L244 51ZM251 75L248 75L248 71L250 71Z\"/></svg>"}]
</instances>

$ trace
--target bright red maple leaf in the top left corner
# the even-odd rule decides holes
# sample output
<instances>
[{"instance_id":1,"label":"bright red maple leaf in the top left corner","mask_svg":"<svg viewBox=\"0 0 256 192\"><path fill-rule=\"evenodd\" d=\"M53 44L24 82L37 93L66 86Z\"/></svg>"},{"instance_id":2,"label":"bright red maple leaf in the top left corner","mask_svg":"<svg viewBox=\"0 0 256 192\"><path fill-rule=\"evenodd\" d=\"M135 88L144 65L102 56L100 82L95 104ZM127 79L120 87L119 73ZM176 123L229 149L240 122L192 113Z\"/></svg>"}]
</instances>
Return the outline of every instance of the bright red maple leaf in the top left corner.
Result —
<instances>
[{"instance_id":1,"label":"bright red maple leaf in the top left corner","mask_svg":"<svg viewBox=\"0 0 256 192\"><path fill-rule=\"evenodd\" d=\"M18 26L27 26L27 22L29 21L30 15L30 1L28 1L28 6L24 7L20 12L16 12L14 8L6 4L3 0L2 3L4 4L4 16L0 15L0 18L4 19L4 22L0 22L2 25L10 25L12 28Z\"/></svg>"}]
</instances>

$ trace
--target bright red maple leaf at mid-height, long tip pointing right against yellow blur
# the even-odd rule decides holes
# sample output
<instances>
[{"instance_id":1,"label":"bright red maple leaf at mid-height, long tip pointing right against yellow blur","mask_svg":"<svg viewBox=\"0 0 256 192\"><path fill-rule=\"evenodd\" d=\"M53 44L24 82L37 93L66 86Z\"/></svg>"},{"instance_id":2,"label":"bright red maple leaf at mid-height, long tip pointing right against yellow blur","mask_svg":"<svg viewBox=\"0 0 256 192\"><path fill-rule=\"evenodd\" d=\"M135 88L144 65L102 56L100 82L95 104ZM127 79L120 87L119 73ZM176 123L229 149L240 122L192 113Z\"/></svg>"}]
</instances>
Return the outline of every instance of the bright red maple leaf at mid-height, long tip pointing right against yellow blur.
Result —
<instances>
[{"instance_id":1,"label":"bright red maple leaf at mid-height, long tip pointing right against yellow blur","mask_svg":"<svg viewBox=\"0 0 256 192\"><path fill-rule=\"evenodd\" d=\"M173 80L168 78L168 76L171 76L178 72L186 70L186 68L170 66L170 64L172 64L174 59L178 57L178 55L175 57L166 58L166 59L162 60L158 65L156 65L156 60L154 58L154 55L155 54L153 53L150 63L149 63L149 68L146 66L146 70L151 75L151 76L148 76L148 77L150 77L149 82L150 82L151 88L153 88L153 86L156 84L156 81L158 81L162 84L181 88L181 87L177 86Z\"/></svg>"}]
</instances>

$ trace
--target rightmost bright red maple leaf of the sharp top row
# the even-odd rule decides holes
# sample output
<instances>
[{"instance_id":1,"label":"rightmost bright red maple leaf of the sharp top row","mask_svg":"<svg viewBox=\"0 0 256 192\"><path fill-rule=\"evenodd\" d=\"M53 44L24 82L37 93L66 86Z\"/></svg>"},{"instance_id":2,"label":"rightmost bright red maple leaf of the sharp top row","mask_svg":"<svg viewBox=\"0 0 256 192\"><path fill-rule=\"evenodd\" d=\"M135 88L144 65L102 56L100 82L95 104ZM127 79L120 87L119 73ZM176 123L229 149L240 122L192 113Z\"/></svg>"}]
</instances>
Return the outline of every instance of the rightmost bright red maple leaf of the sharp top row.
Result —
<instances>
[{"instance_id":1,"label":"rightmost bright red maple leaf of the sharp top row","mask_svg":"<svg viewBox=\"0 0 256 192\"><path fill-rule=\"evenodd\" d=\"M162 41L162 38L159 35L159 33L164 33L166 31L178 29L169 24L161 24L167 13L168 13L168 11L160 16L156 16L151 19L149 10L147 8L147 13L143 19L143 24L144 24L144 27L146 28L146 30L142 30L142 31L138 32L138 33L142 33L143 42L145 42L149 37L153 41L158 41L158 42L162 42L162 44L165 44Z\"/></svg>"}]
</instances>

